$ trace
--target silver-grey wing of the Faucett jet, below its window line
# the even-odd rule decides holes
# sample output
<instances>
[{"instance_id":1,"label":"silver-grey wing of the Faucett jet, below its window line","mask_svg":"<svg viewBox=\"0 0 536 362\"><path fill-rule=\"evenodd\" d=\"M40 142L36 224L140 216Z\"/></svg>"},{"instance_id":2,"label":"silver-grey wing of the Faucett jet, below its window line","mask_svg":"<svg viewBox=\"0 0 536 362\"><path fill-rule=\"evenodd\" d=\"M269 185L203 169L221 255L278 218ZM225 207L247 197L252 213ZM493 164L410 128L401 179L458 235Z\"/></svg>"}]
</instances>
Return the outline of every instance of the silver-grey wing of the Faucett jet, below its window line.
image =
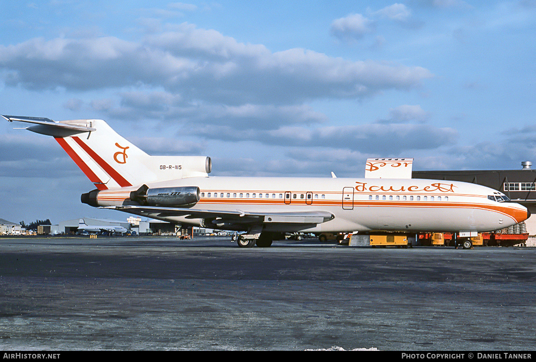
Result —
<instances>
[{"instance_id":1,"label":"silver-grey wing of the Faucett jet, below its window line","mask_svg":"<svg viewBox=\"0 0 536 362\"><path fill-rule=\"evenodd\" d=\"M186 208L165 208L160 206L108 206L114 209L147 215L150 217L185 216L191 219L214 219L216 223L251 224L266 223L321 224L335 216L327 211L293 211L293 212L245 212L241 210L198 210Z\"/></svg>"}]
</instances>

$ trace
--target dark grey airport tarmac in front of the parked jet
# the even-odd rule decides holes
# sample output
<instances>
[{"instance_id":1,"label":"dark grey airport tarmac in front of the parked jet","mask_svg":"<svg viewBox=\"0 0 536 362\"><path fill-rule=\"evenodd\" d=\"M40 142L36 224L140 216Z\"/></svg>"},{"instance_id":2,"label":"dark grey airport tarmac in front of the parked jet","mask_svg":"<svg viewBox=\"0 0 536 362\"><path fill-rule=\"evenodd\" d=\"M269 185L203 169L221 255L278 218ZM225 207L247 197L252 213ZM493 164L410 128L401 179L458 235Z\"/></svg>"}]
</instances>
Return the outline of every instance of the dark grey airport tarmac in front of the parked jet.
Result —
<instances>
[{"instance_id":1,"label":"dark grey airport tarmac in front of the parked jet","mask_svg":"<svg viewBox=\"0 0 536 362\"><path fill-rule=\"evenodd\" d=\"M530 351L536 248L0 238L0 349Z\"/></svg>"}]
</instances>

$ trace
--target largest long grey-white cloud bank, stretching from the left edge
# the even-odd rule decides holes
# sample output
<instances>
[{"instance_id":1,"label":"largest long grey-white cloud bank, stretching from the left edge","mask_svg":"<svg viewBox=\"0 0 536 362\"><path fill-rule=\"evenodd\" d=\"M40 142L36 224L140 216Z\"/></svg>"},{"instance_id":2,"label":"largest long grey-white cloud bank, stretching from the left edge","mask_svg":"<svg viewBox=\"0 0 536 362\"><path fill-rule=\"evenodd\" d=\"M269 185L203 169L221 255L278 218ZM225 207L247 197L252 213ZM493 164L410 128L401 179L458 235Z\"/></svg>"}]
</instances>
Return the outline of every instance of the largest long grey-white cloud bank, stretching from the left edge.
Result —
<instances>
[{"instance_id":1,"label":"largest long grey-white cloud bank, stretching from the left edge","mask_svg":"<svg viewBox=\"0 0 536 362\"><path fill-rule=\"evenodd\" d=\"M307 49L271 53L189 24L142 42L108 36L0 46L0 68L10 86L98 90L146 85L185 100L229 105L360 99L392 88L411 89L432 76L421 67L349 61Z\"/></svg>"}]
</instances>

